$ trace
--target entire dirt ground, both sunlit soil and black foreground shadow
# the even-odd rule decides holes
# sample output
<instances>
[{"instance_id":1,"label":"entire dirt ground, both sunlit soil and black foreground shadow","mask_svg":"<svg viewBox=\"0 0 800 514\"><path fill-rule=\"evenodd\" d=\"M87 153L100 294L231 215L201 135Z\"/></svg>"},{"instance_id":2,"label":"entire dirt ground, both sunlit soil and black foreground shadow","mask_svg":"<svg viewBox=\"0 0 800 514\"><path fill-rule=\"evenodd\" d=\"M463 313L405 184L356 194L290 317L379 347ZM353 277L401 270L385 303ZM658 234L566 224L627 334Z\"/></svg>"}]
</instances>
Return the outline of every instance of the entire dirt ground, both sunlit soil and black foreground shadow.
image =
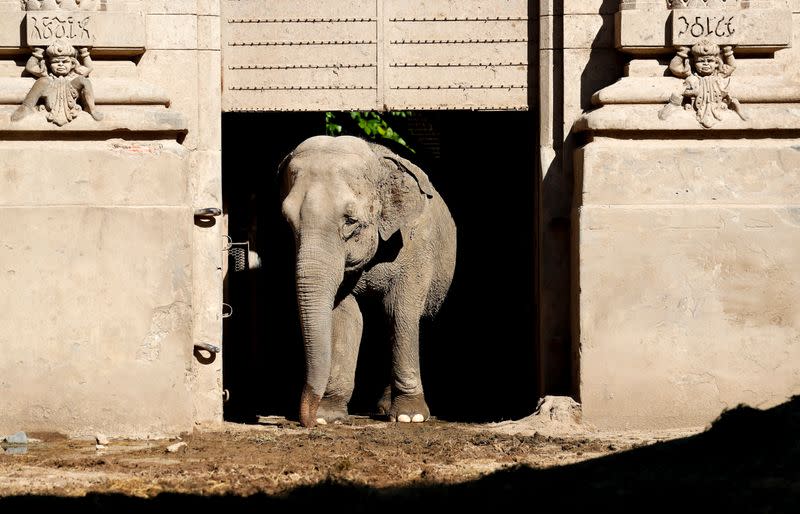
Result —
<instances>
[{"instance_id":1,"label":"entire dirt ground, both sunlit soil and black foreground shadow","mask_svg":"<svg viewBox=\"0 0 800 514\"><path fill-rule=\"evenodd\" d=\"M644 501L647 512L800 512L800 397L768 411L729 411L702 433L598 432L533 418L483 425L353 418L309 430L273 417L180 440L111 440L101 449L94 440L28 436L41 442L0 453L4 512L329 503L393 512L515 502L544 512L642 512ZM178 442L186 445L167 451Z\"/></svg>"}]
</instances>

